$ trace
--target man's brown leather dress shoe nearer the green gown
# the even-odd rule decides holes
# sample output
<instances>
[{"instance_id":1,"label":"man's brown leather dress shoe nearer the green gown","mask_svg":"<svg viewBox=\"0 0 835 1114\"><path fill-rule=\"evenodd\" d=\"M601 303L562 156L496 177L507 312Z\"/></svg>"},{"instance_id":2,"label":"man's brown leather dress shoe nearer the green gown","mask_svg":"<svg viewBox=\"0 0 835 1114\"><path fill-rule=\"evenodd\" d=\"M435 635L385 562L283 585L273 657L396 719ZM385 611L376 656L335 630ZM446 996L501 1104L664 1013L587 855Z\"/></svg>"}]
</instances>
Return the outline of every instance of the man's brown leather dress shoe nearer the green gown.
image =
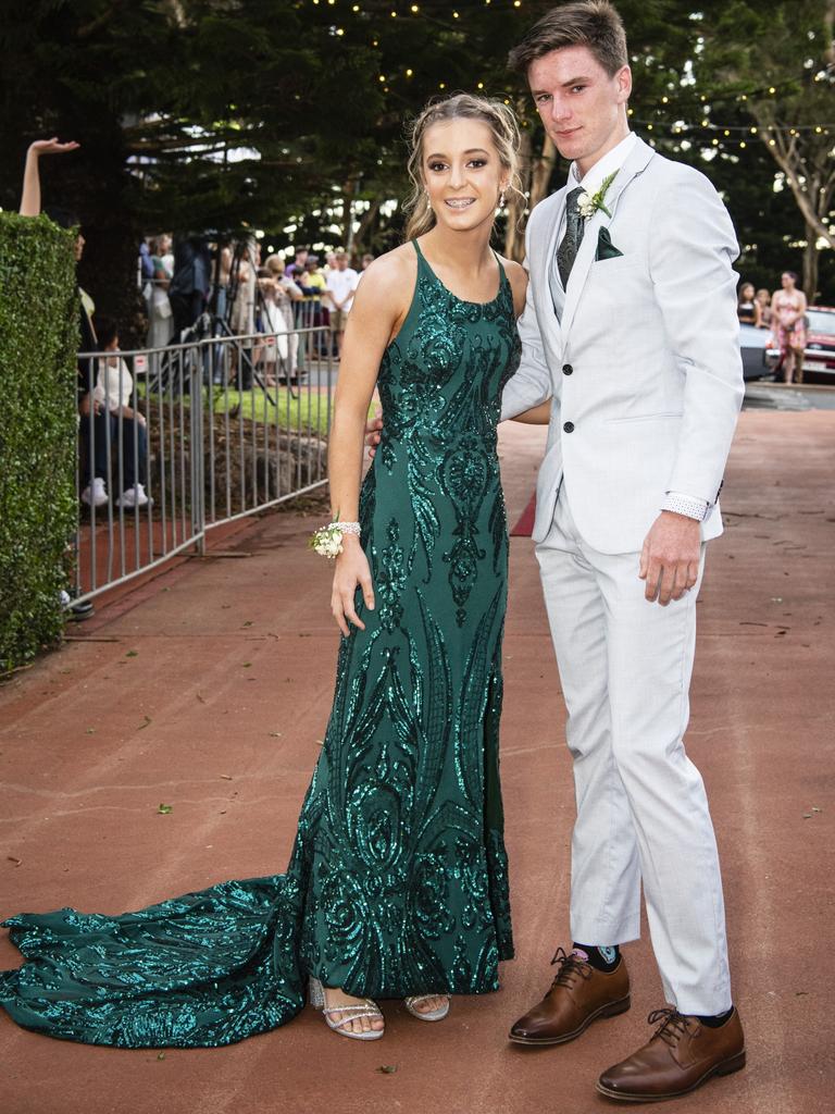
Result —
<instances>
[{"instance_id":1,"label":"man's brown leather dress shoe nearer the green gown","mask_svg":"<svg viewBox=\"0 0 835 1114\"><path fill-rule=\"evenodd\" d=\"M629 975L621 958L613 971L599 971L562 948L551 960L559 965L542 1001L520 1017L510 1030L517 1044L549 1045L573 1040L599 1017L629 1009Z\"/></svg>"}]
</instances>

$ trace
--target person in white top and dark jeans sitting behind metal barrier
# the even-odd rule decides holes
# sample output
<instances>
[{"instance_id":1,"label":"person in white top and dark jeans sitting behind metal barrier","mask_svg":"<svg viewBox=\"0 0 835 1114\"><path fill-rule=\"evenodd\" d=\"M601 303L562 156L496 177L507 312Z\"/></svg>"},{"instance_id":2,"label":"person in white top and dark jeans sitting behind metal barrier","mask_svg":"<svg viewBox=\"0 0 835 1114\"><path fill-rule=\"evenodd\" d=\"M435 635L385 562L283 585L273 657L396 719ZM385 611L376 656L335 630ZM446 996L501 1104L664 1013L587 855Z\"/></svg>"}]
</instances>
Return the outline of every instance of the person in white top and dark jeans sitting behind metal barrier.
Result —
<instances>
[{"instance_id":1,"label":"person in white top and dark jeans sitting behind metal barrier","mask_svg":"<svg viewBox=\"0 0 835 1114\"><path fill-rule=\"evenodd\" d=\"M145 492L148 471L148 438L145 414L131 407L134 378L119 352L119 333L116 322L99 319L99 346L107 355L97 360L94 399L101 408L101 429L94 446L86 444L86 479L81 499L88 505L104 506L108 501L106 479L110 472L121 478L124 488L116 500L117 507L146 507L150 501ZM105 424L107 423L107 424ZM109 428L108 428L109 427ZM86 423L81 423L81 438L86 440ZM104 436L102 436L104 434ZM122 460L119 469L110 467L110 448L115 447ZM117 458L118 459L118 458ZM92 469L90 468L92 465ZM92 475L90 475L92 472Z\"/></svg>"}]
</instances>

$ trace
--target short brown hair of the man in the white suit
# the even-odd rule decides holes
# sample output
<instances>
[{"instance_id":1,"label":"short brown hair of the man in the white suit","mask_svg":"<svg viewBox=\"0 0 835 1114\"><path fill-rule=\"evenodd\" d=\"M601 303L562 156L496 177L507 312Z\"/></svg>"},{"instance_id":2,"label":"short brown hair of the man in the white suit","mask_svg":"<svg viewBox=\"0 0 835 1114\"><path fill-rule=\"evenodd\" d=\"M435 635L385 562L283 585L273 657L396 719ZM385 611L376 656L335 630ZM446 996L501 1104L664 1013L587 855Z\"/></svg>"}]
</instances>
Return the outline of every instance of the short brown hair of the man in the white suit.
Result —
<instances>
[{"instance_id":1,"label":"short brown hair of the man in the white suit","mask_svg":"<svg viewBox=\"0 0 835 1114\"><path fill-rule=\"evenodd\" d=\"M562 47L588 47L609 77L629 62L623 21L609 0L580 0L553 8L538 20L508 57L527 74L531 62Z\"/></svg>"}]
</instances>

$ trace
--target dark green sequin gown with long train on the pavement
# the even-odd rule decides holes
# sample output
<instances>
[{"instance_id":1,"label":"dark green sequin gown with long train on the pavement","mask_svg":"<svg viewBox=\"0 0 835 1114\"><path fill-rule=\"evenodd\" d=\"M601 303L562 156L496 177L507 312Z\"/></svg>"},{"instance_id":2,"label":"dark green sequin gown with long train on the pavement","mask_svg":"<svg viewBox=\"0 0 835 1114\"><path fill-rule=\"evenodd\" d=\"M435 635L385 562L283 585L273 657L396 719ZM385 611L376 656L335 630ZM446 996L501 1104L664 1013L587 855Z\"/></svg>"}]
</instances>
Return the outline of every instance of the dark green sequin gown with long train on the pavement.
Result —
<instances>
[{"instance_id":1,"label":"dark green sequin gown with long train on the pavement","mask_svg":"<svg viewBox=\"0 0 835 1114\"><path fill-rule=\"evenodd\" d=\"M376 609L342 639L287 872L116 917L11 917L27 962L0 976L0 1004L18 1024L89 1044L218 1046L294 1017L310 974L376 998L498 988L513 945L495 431L519 340L503 268L492 302L463 302L415 248L361 495Z\"/></svg>"}]
</instances>

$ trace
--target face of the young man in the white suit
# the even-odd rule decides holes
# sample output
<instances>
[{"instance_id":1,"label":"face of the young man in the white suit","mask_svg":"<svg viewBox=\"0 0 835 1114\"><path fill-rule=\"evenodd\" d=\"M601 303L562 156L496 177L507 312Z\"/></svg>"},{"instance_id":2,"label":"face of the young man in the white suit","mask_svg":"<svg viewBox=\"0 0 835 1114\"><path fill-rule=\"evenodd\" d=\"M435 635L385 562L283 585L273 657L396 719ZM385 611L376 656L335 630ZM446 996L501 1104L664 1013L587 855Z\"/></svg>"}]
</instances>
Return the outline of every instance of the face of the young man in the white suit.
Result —
<instances>
[{"instance_id":1,"label":"face of the young man in the white suit","mask_svg":"<svg viewBox=\"0 0 835 1114\"><path fill-rule=\"evenodd\" d=\"M621 138L632 75L610 77L588 47L562 47L531 62L528 80L546 131L563 158L584 169Z\"/></svg>"}]
</instances>

